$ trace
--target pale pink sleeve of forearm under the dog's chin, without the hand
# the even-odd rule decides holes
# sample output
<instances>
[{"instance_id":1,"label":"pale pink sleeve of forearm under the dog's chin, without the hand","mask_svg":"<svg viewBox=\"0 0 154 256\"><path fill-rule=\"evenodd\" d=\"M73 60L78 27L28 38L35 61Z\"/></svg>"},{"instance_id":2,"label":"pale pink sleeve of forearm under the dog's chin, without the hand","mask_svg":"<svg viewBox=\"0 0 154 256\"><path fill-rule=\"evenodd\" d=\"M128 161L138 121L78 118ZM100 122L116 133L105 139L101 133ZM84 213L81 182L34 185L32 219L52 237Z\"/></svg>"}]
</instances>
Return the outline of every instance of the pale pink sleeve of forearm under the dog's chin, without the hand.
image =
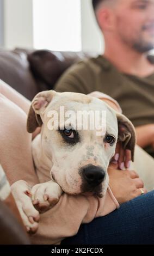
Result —
<instances>
[{"instance_id":1,"label":"pale pink sleeve of forearm under the dog's chin, without the hand","mask_svg":"<svg viewBox=\"0 0 154 256\"><path fill-rule=\"evenodd\" d=\"M99 202L98 198L93 196L63 194L51 210L40 216L38 231L35 236L30 237L32 243L60 243L65 237L77 234L82 223L89 223L95 217L116 209L117 206L109 195L102 200L103 202Z\"/></svg>"}]
</instances>

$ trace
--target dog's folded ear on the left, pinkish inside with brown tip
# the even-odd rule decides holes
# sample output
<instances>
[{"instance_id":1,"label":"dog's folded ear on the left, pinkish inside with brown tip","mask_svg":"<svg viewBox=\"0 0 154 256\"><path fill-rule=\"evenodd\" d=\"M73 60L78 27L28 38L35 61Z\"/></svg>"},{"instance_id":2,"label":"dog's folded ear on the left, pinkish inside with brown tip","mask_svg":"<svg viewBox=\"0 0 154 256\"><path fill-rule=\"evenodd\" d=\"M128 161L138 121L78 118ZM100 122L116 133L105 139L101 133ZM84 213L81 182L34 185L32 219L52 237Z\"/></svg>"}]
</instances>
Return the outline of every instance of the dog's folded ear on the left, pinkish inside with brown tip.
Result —
<instances>
[{"instance_id":1,"label":"dog's folded ear on the left, pinkish inside with brown tip","mask_svg":"<svg viewBox=\"0 0 154 256\"><path fill-rule=\"evenodd\" d=\"M27 131L32 133L38 126L42 125L40 114L43 113L51 102L53 96L56 95L54 90L47 90L36 94L30 105L27 118Z\"/></svg>"}]
</instances>

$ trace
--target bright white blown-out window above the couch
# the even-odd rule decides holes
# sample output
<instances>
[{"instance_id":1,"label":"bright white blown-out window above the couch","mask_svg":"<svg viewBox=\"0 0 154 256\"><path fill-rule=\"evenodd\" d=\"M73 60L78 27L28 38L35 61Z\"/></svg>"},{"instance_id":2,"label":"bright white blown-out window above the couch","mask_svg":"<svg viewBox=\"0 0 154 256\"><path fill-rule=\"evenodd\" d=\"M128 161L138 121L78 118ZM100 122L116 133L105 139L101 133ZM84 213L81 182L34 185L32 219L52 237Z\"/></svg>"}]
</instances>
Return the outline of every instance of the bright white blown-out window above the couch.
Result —
<instances>
[{"instance_id":1,"label":"bright white blown-out window above the couch","mask_svg":"<svg viewBox=\"0 0 154 256\"><path fill-rule=\"evenodd\" d=\"M81 51L81 0L33 0L34 48Z\"/></svg>"}]
</instances>

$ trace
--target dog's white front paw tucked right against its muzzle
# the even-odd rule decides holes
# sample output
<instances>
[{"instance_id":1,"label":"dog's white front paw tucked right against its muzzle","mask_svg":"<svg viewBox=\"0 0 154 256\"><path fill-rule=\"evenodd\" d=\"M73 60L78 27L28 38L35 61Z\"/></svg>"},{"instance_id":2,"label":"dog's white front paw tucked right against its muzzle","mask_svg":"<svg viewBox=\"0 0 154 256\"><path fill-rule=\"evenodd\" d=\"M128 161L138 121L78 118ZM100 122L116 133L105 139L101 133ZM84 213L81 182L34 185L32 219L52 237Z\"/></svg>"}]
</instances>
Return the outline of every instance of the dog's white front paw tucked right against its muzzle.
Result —
<instances>
[{"instance_id":1,"label":"dog's white front paw tucked right against its muzzle","mask_svg":"<svg viewBox=\"0 0 154 256\"><path fill-rule=\"evenodd\" d=\"M57 204L62 192L60 186L52 180L37 184L32 187L32 203L40 213L45 212Z\"/></svg>"}]
</instances>

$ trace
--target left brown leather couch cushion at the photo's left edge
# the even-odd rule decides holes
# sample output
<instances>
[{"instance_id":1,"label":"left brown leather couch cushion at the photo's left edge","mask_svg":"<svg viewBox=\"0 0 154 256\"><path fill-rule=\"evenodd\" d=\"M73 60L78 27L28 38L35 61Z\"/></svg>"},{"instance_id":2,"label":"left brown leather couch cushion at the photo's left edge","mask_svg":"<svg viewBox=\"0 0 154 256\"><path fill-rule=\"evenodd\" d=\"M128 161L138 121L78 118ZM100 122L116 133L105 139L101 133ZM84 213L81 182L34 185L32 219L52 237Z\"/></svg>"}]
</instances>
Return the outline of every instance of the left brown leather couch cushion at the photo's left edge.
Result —
<instances>
[{"instance_id":1,"label":"left brown leather couch cushion at the photo's left edge","mask_svg":"<svg viewBox=\"0 0 154 256\"><path fill-rule=\"evenodd\" d=\"M0 78L29 100L39 91L24 52L0 50Z\"/></svg>"}]
</instances>

